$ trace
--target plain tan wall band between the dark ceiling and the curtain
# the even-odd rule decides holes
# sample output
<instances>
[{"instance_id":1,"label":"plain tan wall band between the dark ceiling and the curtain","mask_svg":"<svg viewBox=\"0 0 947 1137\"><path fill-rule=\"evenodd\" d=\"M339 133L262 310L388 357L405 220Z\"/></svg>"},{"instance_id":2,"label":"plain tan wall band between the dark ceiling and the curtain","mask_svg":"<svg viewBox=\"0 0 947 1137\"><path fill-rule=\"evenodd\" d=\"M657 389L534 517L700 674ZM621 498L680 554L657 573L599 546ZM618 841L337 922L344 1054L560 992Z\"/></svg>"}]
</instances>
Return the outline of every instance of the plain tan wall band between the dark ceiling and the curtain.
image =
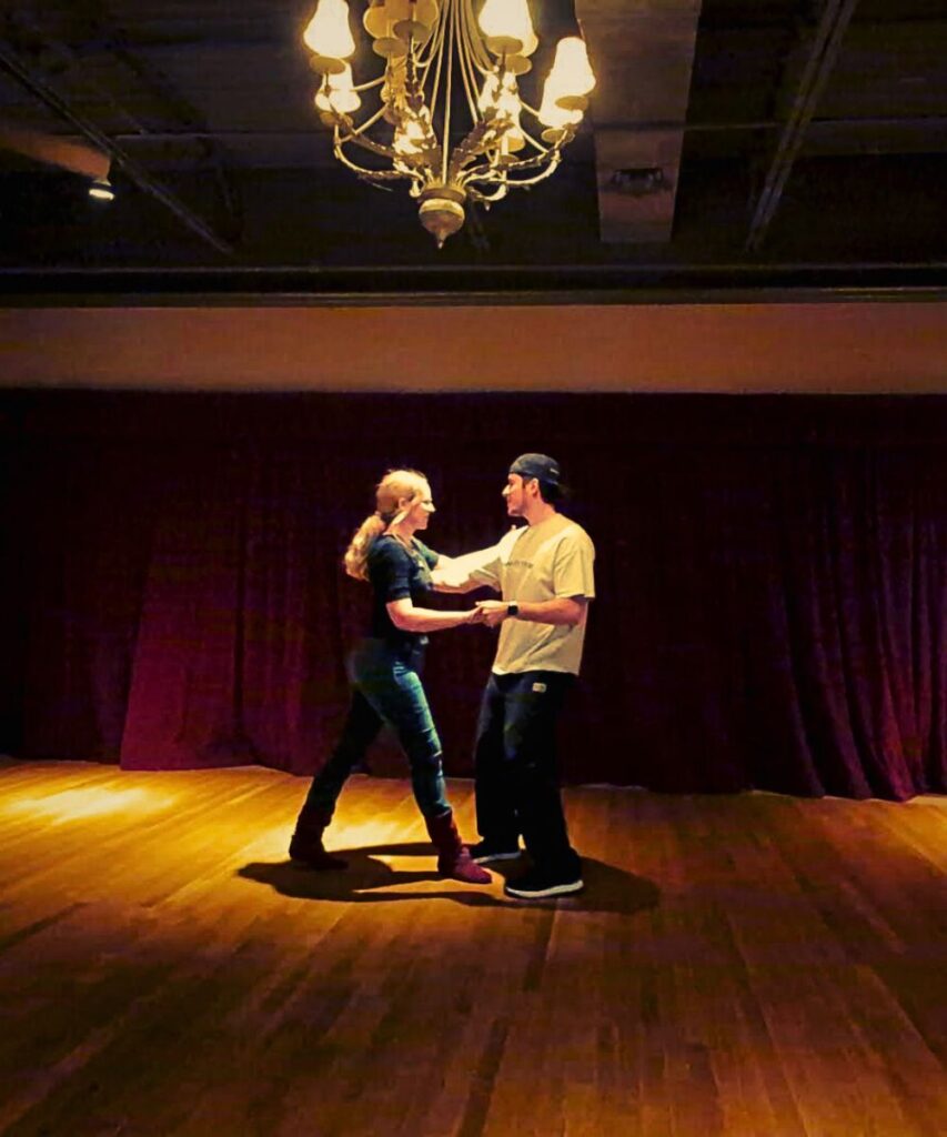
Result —
<instances>
[{"instance_id":1,"label":"plain tan wall band between the dark ceiling and the curtain","mask_svg":"<svg viewBox=\"0 0 947 1137\"><path fill-rule=\"evenodd\" d=\"M947 305L9 308L0 385L937 392Z\"/></svg>"}]
</instances>

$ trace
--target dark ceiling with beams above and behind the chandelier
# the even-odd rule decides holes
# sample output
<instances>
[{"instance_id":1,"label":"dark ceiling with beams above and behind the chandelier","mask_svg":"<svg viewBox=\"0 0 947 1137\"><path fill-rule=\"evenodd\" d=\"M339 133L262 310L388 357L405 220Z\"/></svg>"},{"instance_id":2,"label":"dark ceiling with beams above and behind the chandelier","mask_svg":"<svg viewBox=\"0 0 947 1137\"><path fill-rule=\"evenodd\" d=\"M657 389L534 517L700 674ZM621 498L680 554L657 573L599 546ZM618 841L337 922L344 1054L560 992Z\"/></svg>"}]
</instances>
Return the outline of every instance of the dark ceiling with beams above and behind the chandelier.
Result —
<instances>
[{"instance_id":1,"label":"dark ceiling with beams above and behind the chandelier","mask_svg":"<svg viewBox=\"0 0 947 1137\"><path fill-rule=\"evenodd\" d=\"M5 302L947 294L947 0L531 0L543 44L589 42L587 123L440 251L406 192L332 158L314 6L8 0Z\"/></svg>"}]
</instances>

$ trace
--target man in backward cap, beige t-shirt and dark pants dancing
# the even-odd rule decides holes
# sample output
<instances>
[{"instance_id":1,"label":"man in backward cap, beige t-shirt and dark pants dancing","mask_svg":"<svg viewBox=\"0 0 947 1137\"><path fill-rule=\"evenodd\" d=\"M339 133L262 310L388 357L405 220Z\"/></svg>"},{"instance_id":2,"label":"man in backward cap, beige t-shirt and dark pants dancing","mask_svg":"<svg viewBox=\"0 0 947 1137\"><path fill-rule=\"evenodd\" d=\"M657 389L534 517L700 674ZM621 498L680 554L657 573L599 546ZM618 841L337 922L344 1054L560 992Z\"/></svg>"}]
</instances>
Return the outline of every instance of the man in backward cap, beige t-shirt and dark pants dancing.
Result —
<instances>
[{"instance_id":1,"label":"man in backward cap, beige t-shirt and dark pants dancing","mask_svg":"<svg viewBox=\"0 0 947 1137\"><path fill-rule=\"evenodd\" d=\"M520 835L533 866L507 883L510 896L538 898L582 888L568 840L555 753L556 720L579 674L588 605L595 596L595 548L559 514L558 463L523 454L502 490L507 513L525 521L499 543L434 573L442 591L490 584L501 600L482 600L484 623L499 626L497 655L476 732L480 864L518 856Z\"/></svg>"}]
</instances>

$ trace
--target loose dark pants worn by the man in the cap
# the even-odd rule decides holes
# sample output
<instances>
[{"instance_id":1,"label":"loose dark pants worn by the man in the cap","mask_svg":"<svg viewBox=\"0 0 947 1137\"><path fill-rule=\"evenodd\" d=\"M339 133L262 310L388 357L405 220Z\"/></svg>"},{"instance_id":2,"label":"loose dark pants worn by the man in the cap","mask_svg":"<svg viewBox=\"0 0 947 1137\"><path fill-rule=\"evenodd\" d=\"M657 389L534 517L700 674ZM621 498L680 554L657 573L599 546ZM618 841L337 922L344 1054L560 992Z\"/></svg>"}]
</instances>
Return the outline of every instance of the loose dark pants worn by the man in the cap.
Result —
<instances>
[{"instance_id":1,"label":"loose dark pants worn by the man in the cap","mask_svg":"<svg viewBox=\"0 0 947 1137\"><path fill-rule=\"evenodd\" d=\"M558 671L491 674L476 730L476 827L490 845L515 848L520 833L533 862L580 871L568 843L556 761L556 720L573 675Z\"/></svg>"}]
</instances>

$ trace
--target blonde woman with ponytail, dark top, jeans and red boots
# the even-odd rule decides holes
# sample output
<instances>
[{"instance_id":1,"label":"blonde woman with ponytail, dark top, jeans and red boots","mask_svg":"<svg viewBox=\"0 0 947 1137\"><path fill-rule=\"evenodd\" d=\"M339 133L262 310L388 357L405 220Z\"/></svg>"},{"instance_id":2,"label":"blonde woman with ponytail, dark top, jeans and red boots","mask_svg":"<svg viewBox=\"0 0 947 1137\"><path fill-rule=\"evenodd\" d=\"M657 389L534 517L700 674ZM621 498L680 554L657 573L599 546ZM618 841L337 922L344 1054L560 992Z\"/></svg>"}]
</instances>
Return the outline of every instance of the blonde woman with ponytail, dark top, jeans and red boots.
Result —
<instances>
[{"instance_id":1,"label":"blonde woman with ponytail, dark top, jeans and red boots","mask_svg":"<svg viewBox=\"0 0 947 1137\"><path fill-rule=\"evenodd\" d=\"M418 606L431 587L431 570L446 561L415 537L434 512L424 475L392 470L379 483L375 504L344 557L348 574L372 586L371 631L349 662L349 715L332 756L309 788L290 856L315 869L346 868L344 861L325 852L323 832L346 779L387 722L408 756L415 800L438 850L438 872L487 885L490 873L473 863L457 832L445 791L441 744L421 683L426 633L480 623L483 617L479 608L437 612Z\"/></svg>"}]
</instances>

